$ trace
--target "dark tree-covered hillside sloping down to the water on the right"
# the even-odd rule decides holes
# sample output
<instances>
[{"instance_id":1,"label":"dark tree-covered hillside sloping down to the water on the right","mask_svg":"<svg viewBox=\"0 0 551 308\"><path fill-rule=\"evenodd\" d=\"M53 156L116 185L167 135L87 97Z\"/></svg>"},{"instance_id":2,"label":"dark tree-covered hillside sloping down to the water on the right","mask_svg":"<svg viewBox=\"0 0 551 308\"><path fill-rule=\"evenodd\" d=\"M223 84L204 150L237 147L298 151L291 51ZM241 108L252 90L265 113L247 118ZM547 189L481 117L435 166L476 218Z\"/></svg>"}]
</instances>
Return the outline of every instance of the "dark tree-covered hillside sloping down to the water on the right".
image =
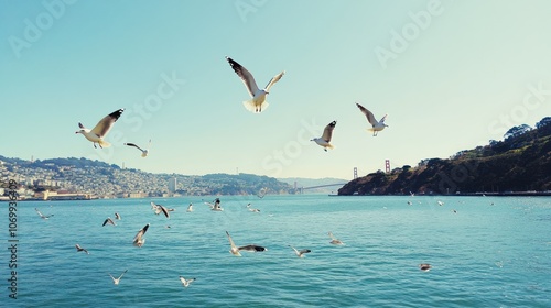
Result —
<instances>
[{"instance_id":1,"label":"dark tree-covered hillside sloping down to the water on the right","mask_svg":"<svg viewBox=\"0 0 551 308\"><path fill-rule=\"evenodd\" d=\"M543 118L534 129L511 128L504 138L447 160L423 160L417 167L368 174L346 184L338 195L551 190L551 118Z\"/></svg>"}]
</instances>

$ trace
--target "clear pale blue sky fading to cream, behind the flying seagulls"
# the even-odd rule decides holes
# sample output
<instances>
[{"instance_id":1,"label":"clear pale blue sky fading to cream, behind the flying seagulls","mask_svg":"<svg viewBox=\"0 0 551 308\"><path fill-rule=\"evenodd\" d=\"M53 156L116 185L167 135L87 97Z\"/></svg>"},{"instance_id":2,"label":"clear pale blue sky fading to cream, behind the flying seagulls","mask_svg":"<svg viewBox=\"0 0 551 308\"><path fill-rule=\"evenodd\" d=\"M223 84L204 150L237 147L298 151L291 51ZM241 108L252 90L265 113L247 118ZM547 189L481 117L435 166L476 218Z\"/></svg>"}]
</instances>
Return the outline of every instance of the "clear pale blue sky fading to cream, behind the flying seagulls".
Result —
<instances>
[{"instance_id":1,"label":"clear pale blue sky fading to cream, behind the flying seagulls","mask_svg":"<svg viewBox=\"0 0 551 308\"><path fill-rule=\"evenodd\" d=\"M0 154L352 178L551 116L550 1L0 0ZM260 114L225 56L259 86ZM360 102L389 128L366 131ZM93 128L126 108L94 148ZM309 140L333 120L333 151ZM136 148L152 140L150 156Z\"/></svg>"}]
</instances>

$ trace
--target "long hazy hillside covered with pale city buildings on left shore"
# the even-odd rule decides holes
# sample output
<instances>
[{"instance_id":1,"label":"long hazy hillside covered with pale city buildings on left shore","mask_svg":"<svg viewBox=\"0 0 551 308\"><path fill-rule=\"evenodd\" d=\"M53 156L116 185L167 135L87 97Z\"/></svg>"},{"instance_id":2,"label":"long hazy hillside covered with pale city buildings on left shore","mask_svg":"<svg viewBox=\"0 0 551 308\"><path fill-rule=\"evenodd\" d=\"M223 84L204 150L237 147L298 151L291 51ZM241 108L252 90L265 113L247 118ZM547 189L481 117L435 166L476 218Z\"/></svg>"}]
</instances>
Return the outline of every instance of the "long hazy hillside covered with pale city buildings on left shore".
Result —
<instances>
[{"instance_id":1,"label":"long hazy hillside covered with pale city buildings on left shore","mask_svg":"<svg viewBox=\"0 0 551 308\"><path fill-rule=\"evenodd\" d=\"M291 185L273 177L252 174L152 174L139 169L123 169L87 158L48 158L34 162L0 155L0 175L15 179L32 191L68 191L94 194L98 197L118 197L131 193L142 196L181 195L263 195L294 194ZM169 191L169 182L176 178L175 191Z\"/></svg>"}]
</instances>

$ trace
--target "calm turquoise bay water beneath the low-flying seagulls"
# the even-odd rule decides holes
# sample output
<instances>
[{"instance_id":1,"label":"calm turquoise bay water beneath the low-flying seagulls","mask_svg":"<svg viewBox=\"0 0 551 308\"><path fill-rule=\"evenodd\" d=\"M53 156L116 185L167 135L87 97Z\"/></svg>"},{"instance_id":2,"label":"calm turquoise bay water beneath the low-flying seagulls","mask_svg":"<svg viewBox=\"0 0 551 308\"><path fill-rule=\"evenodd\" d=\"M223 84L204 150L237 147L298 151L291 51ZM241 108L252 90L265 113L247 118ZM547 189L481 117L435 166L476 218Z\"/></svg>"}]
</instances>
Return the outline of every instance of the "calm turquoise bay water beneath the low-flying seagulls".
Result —
<instances>
[{"instance_id":1,"label":"calm turquoise bay water beneath the low-flying seagulls","mask_svg":"<svg viewBox=\"0 0 551 308\"><path fill-rule=\"evenodd\" d=\"M551 307L548 197L222 196L223 212L204 204L213 199L18 202L18 299L4 249L0 306ZM150 201L176 210L155 216ZM101 227L115 212L117 226ZM236 257L226 230L268 251ZM288 245L312 252L299 258ZM114 285L108 273L125 270ZM180 275L197 280L184 288Z\"/></svg>"}]
</instances>

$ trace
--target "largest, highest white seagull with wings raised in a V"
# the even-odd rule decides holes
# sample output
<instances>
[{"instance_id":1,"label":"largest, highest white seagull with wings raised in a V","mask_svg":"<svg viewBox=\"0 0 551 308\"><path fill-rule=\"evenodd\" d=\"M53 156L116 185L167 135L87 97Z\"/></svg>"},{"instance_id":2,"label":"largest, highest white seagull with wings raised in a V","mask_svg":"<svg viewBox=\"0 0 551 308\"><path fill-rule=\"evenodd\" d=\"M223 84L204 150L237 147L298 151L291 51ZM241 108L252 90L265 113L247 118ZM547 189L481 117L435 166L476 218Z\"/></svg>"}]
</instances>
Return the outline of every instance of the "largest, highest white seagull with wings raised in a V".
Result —
<instances>
[{"instance_id":1,"label":"largest, highest white seagull with wings raised in a V","mask_svg":"<svg viewBox=\"0 0 551 308\"><path fill-rule=\"evenodd\" d=\"M273 76L273 78L266 85L263 89L259 89L257 86L257 82L255 81L255 77L252 77L252 74L249 73L245 67L242 67L239 63L235 62L233 58L226 56L226 59L229 63L229 66L234 68L236 72L237 76L241 78L241 80L245 84L245 87L247 87L247 90L249 91L249 95L252 99L244 101L242 105L245 108L251 112L261 112L262 109L268 108L268 101L266 101L266 96L269 94L270 88L283 77L285 72L281 72L280 74Z\"/></svg>"}]
</instances>

